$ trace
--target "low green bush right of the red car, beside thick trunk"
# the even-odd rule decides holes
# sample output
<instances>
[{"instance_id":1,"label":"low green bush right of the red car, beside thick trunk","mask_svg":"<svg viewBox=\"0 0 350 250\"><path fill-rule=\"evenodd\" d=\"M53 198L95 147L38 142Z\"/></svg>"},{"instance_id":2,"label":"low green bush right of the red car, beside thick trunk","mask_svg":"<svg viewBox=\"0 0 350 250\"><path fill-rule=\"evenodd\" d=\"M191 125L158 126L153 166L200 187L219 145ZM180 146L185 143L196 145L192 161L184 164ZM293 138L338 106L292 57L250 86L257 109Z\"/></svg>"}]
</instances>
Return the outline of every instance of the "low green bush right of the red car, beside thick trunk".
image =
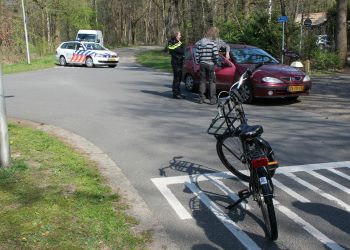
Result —
<instances>
[{"instance_id":1,"label":"low green bush right of the red car, beside thick trunk","mask_svg":"<svg viewBox=\"0 0 350 250\"><path fill-rule=\"evenodd\" d=\"M339 57L334 52L317 50L312 55L311 67L313 70L336 70L340 69Z\"/></svg>"}]
</instances>

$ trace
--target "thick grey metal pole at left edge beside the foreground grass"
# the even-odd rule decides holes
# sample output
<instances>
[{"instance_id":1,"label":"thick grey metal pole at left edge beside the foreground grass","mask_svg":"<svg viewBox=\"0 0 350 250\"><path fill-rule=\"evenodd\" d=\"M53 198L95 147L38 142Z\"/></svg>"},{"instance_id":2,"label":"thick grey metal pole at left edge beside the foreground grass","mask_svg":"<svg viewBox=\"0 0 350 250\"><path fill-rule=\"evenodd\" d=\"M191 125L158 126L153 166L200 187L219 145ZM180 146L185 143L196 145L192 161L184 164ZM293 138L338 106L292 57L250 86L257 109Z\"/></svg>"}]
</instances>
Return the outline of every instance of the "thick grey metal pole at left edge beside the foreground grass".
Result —
<instances>
[{"instance_id":1,"label":"thick grey metal pole at left edge beside the foreground grass","mask_svg":"<svg viewBox=\"0 0 350 250\"><path fill-rule=\"evenodd\" d=\"M4 86L2 84L2 71L0 65L0 165L2 167L10 166L10 144L6 116Z\"/></svg>"}]
</instances>

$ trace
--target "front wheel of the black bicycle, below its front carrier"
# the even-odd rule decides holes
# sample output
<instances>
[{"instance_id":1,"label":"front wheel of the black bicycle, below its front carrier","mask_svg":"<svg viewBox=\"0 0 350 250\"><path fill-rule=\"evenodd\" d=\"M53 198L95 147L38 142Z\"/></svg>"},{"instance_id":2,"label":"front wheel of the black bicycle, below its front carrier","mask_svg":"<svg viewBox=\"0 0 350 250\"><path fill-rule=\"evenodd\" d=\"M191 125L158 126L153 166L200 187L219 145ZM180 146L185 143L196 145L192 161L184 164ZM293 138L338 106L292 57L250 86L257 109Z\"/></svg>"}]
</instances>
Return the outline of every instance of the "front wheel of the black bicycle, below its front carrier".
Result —
<instances>
[{"instance_id":1,"label":"front wheel of the black bicycle, below its front carrier","mask_svg":"<svg viewBox=\"0 0 350 250\"><path fill-rule=\"evenodd\" d=\"M229 134L217 138L216 151L221 162L231 173L243 181L249 181L250 171L241 140Z\"/></svg>"}]
</instances>

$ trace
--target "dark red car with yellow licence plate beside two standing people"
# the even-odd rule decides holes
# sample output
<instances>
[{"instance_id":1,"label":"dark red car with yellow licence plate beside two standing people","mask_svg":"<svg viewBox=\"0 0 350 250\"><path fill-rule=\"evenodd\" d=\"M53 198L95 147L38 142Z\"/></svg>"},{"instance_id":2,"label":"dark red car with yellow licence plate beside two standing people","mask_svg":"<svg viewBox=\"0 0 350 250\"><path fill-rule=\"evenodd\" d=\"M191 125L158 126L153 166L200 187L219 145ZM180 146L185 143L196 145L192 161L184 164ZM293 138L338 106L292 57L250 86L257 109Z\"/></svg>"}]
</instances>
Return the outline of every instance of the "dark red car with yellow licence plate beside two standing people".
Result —
<instances>
[{"instance_id":1,"label":"dark red car with yellow licence plate beside two standing people","mask_svg":"<svg viewBox=\"0 0 350 250\"><path fill-rule=\"evenodd\" d=\"M312 83L302 70L281 64L266 51L249 45L230 44L230 61L220 57L217 66L217 90L228 90L231 85L253 64L264 63L254 73L251 81L241 87L245 103L255 98L289 98L296 100L307 95ZM193 91L199 84L199 65L195 62L196 48L189 46L185 50L183 81L188 90Z\"/></svg>"}]
</instances>

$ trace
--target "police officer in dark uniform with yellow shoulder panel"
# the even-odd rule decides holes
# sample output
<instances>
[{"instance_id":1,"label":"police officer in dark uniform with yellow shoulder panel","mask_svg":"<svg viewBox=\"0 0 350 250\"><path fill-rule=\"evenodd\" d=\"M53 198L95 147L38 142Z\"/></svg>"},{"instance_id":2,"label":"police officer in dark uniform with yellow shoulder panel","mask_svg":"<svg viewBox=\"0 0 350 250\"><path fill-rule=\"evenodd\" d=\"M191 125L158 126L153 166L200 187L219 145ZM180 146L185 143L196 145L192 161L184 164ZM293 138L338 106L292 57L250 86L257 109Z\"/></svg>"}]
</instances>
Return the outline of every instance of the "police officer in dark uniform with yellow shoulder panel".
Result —
<instances>
[{"instance_id":1,"label":"police officer in dark uniform with yellow shoulder panel","mask_svg":"<svg viewBox=\"0 0 350 250\"><path fill-rule=\"evenodd\" d=\"M184 62L184 46L181 39L181 32L175 31L168 41L168 49L171 55L171 66L173 67L173 97L175 99L185 98L180 92L180 83L182 78L182 66Z\"/></svg>"}]
</instances>

